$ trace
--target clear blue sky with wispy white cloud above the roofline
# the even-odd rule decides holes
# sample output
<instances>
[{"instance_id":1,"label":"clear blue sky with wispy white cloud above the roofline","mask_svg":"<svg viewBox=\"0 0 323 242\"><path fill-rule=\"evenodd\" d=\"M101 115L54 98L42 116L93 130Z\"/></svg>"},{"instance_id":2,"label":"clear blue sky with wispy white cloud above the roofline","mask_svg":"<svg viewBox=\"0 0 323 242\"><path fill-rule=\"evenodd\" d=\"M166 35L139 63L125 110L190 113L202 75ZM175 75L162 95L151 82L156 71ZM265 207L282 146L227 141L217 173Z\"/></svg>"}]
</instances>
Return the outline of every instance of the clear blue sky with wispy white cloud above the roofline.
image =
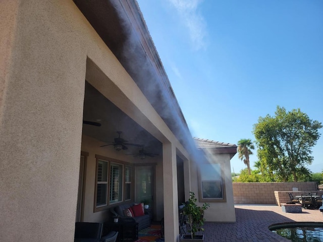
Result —
<instances>
[{"instance_id":1,"label":"clear blue sky with wispy white cloud above the roofline","mask_svg":"<svg viewBox=\"0 0 323 242\"><path fill-rule=\"evenodd\" d=\"M254 141L258 117L277 105L323 122L323 1L138 4L192 136ZM312 151L309 168L320 172L323 135ZM256 160L255 151L251 168ZM231 170L243 168L235 155Z\"/></svg>"}]
</instances>

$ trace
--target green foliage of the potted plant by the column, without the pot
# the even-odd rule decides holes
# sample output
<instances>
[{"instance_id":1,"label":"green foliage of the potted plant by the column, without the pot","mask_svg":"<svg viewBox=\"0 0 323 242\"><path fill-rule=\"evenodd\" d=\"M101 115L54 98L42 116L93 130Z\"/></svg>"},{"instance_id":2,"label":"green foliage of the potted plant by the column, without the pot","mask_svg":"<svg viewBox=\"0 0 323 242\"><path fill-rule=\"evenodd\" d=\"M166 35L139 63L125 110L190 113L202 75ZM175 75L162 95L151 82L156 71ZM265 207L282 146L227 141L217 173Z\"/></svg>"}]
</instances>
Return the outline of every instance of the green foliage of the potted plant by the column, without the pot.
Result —
<instances>
[{"instance_id":1,"label":"green foliage of the potted plant by the column, without the pot","mask_svg":"<svg viewBox=\"0 0 323 242\"><path fill-rule=\"evenodd\" d=\"M204 228L202 228L205 221L204 211L210 206L208 203L204 203L201 207L197 206L196 201L195 194L190 192L189 200L183 203L185 205L183 213L187 216L188 231L191 233L191 238L195 236L197 231L204 231Z\"/></svg>"}]
</instances>

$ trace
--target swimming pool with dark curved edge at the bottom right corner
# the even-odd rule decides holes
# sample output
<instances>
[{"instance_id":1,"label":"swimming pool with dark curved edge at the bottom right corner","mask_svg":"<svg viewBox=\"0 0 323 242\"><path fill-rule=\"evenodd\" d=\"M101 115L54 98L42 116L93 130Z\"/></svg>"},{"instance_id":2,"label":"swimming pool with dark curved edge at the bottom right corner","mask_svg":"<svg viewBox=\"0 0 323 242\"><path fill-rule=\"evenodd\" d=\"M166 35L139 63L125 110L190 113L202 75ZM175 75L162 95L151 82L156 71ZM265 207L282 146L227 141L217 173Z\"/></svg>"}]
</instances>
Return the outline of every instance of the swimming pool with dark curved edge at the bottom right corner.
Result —
<instances>
[{"instance_id":1,"label":"swimming pool with dark curved edge at the bottom right corner","mask_svg":"<svg viewBox=\"0 0 323 242\"><path fill-rule=\"evenodd\" d=\"M276 223L268 228L293 242L323 242L323 222Z\"/></svg>"}]
</instances>

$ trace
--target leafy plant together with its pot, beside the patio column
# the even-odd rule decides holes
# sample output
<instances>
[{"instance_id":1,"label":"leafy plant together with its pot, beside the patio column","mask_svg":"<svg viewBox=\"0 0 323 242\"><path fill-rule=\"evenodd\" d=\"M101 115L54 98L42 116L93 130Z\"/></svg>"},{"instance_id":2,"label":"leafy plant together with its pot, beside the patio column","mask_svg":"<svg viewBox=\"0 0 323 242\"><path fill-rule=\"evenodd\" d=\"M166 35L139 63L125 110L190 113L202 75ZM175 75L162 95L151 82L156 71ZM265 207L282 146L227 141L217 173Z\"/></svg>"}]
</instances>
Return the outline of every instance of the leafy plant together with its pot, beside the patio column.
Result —
<instances>
[{"instance_id":1,"label":"leafy plant together with its pot, beside the patio column","mask_svg":"<svg viewBox=\"0 0 323 242\"><path fill-rule=\"evenodd\" d=\"M189 200L183 204L185 205L183 208L183 213L187 217L186 224L189 226L187 231L190 234L183 234L181 237L182 242L189 241L204 241L203 234L196 234L198 231L204 231L202 227L204 224L204 211L210 206L208 203L204 203L201 207L196 204L197 199L195 198L195 194L190 192Z\"/></svg>"}]
</instances>

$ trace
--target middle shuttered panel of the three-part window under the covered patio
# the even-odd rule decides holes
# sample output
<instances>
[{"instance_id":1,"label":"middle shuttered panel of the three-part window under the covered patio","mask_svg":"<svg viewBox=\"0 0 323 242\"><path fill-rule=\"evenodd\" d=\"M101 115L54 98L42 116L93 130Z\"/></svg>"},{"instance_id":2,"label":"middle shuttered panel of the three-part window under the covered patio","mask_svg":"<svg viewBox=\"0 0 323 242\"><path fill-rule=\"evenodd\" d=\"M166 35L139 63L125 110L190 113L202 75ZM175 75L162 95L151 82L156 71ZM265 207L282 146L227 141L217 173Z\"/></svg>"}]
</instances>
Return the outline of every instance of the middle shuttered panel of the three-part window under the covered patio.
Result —
<instances>
[{"instance_id":1,"label":"middle shuttered panel of the three-part window under the covered patio","mask_svg":"<svg viewBox=\"0 0 323 242\"><path fill-rule=\"evenodd\" d=\"M110 203L122 201L122 165L110 167Z\"/></svg>"}]
</instances>

